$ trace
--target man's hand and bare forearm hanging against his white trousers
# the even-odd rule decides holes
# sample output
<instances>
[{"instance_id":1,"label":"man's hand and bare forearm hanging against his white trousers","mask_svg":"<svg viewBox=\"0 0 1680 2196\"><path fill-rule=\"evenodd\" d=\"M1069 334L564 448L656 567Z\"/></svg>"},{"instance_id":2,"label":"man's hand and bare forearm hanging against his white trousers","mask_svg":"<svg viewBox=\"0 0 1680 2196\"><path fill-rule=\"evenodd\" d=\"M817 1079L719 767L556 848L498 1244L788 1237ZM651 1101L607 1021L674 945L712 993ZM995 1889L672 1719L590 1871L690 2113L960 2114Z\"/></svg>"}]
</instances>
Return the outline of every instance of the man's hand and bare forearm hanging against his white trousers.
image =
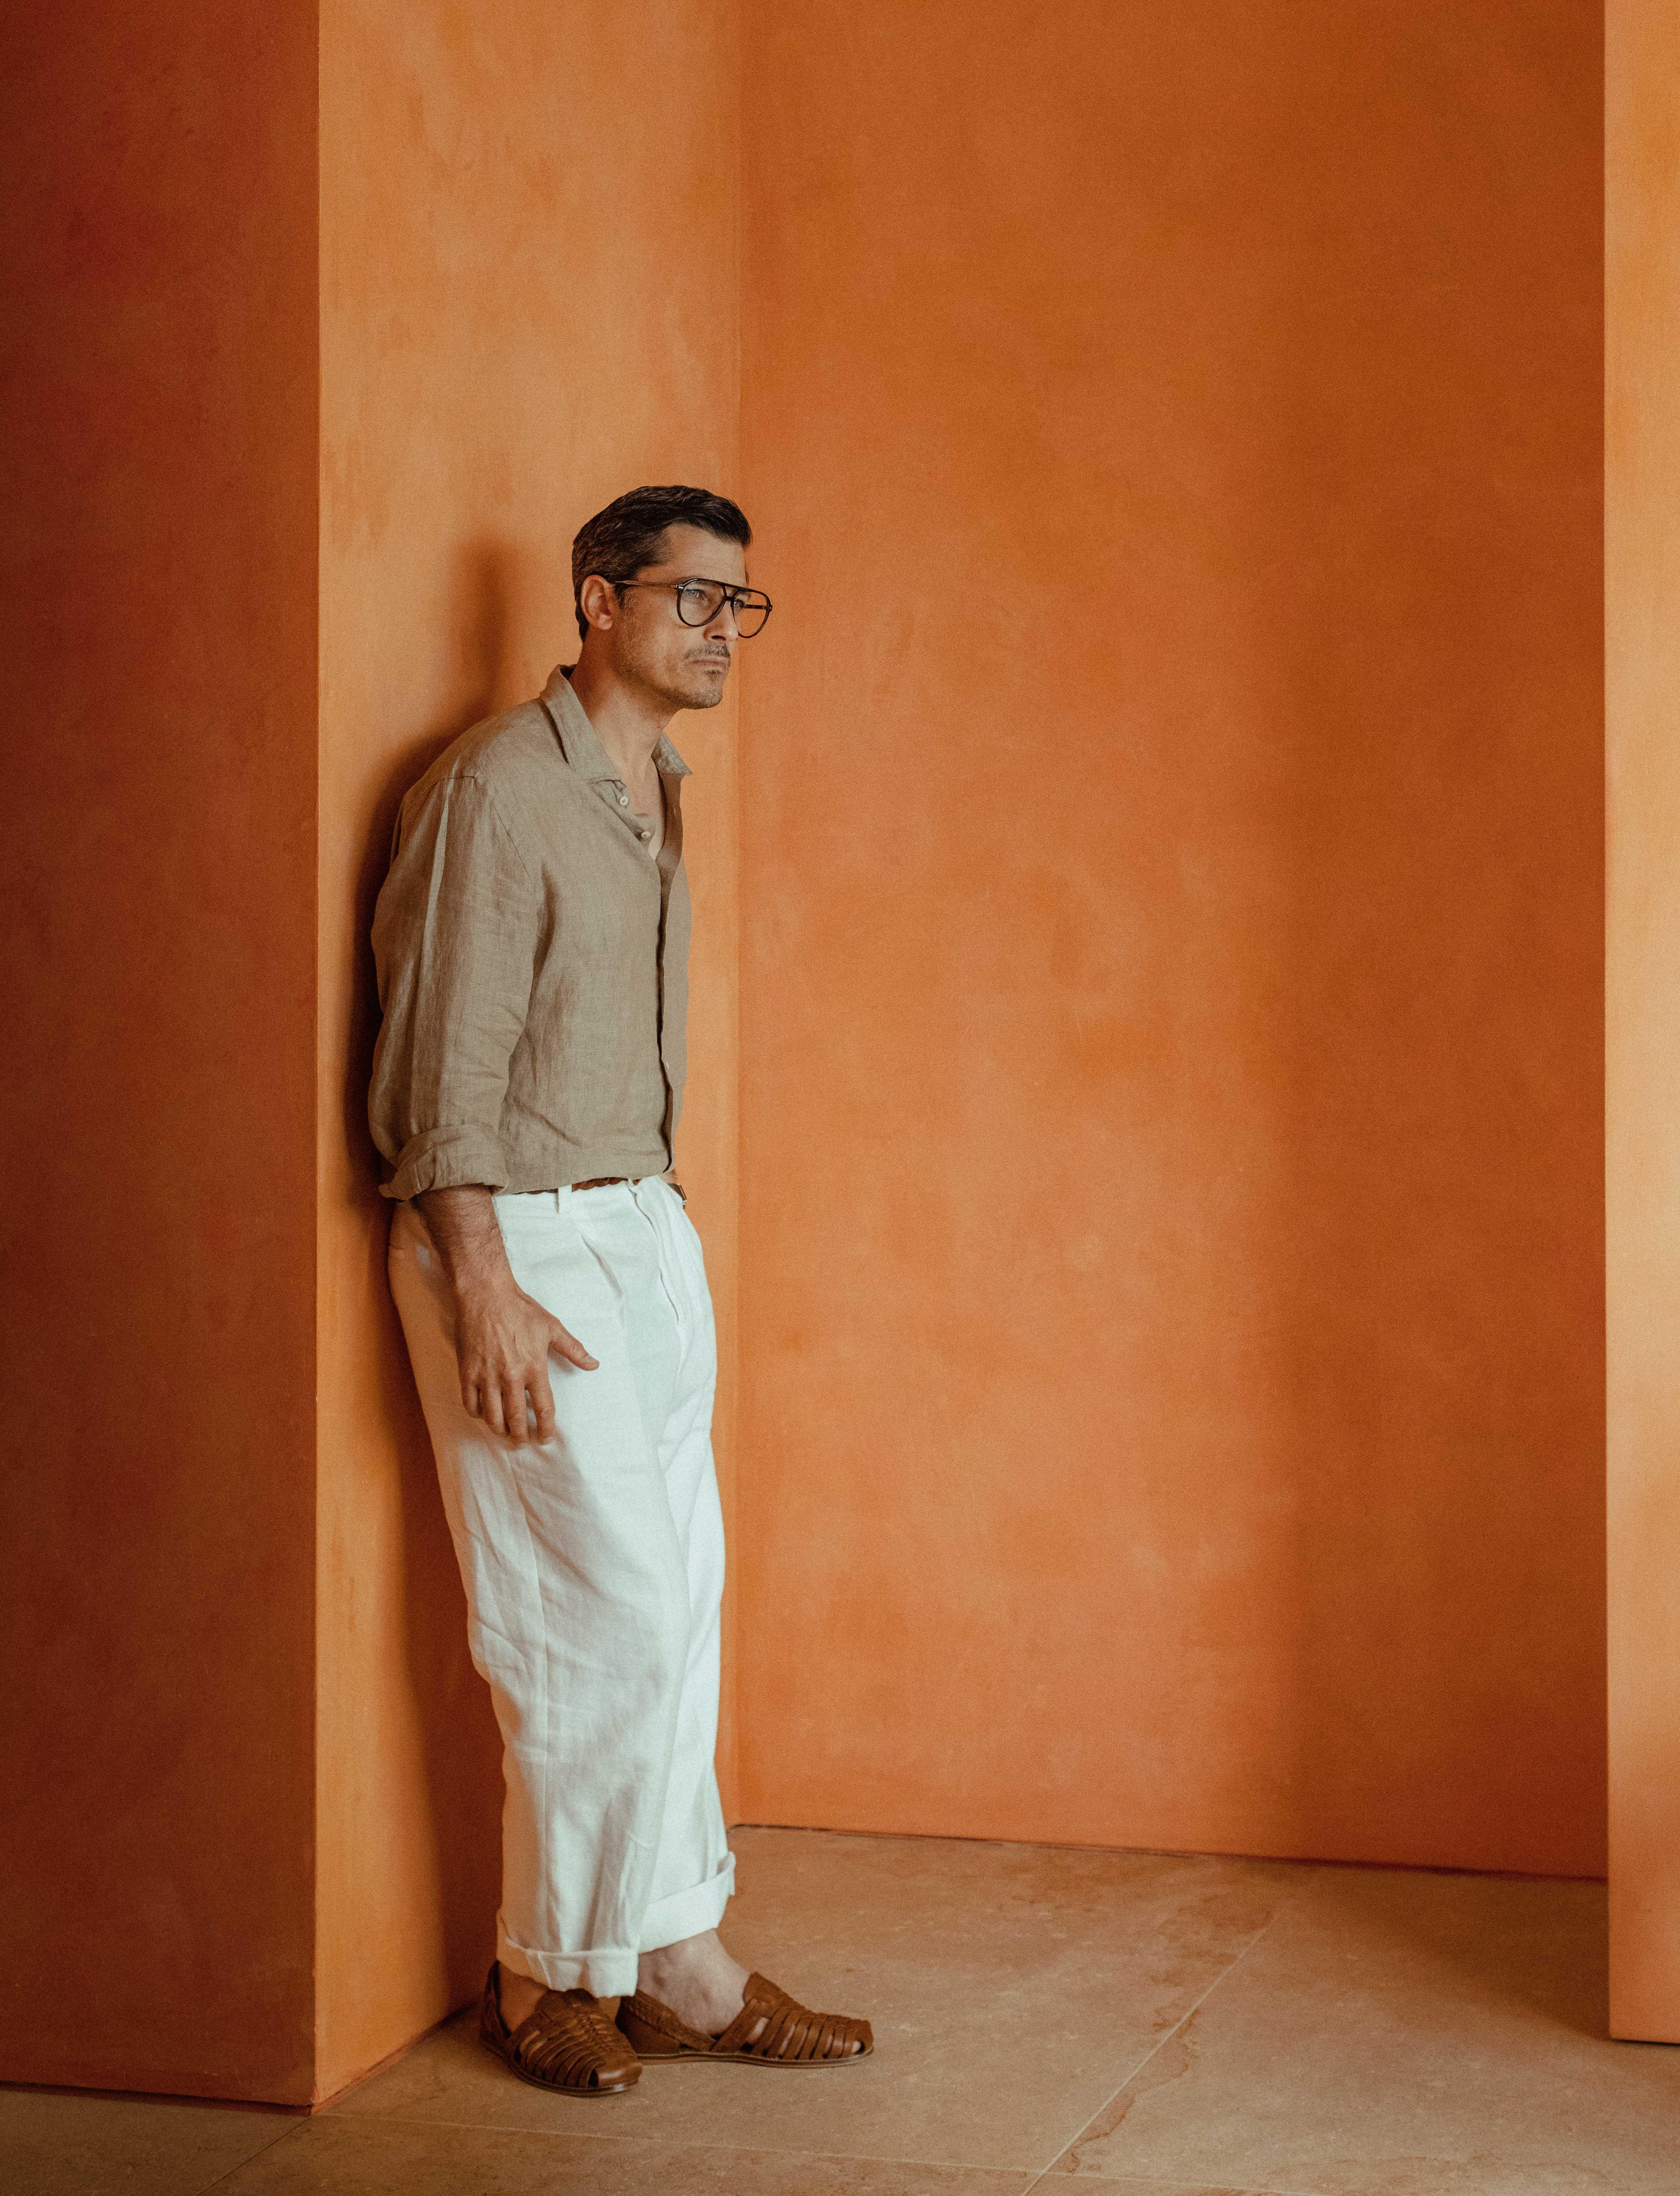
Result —
<instances>
[{"instance_id":1,"label":"man's hand and bare forearm hanging against his white trousers","mask_svg":"<svg viewBox=\"0 0 1680 2196\"><path fill-rule=\"evenodd\" d=\"M461 1401L496 1434L549 1441L549 1353L580 1372L593 1372L595 1359L514 1280L488 1188L426 1190L415 1203L455 1289Z\"/></svg>"}]
</instances>

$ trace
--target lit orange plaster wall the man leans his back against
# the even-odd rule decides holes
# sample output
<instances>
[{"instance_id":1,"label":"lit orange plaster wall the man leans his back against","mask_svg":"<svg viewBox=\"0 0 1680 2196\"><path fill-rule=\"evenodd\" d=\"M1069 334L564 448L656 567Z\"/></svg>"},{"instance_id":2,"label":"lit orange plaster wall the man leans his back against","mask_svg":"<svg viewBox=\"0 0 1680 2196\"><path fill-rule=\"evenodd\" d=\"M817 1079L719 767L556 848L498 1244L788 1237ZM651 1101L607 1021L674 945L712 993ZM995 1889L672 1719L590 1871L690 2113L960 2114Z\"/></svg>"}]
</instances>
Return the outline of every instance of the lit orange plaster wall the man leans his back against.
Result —
<instances>
[{"instance_id":1,"label":"lit orange plaster wall the man leans his back against","mask_svg":"<svg viewBox=\"0 0 1680 2196\"><path fill-rule=\"evenodd\" d=\"M402 791L575 659L571 536L738 485L729 7L327 0L321 29L318 2093L481 1983L501 1761L384 1285L367 927ZM681 1168L733 1454L733 707L679 720L696 903Z\"/></svg>"}]
</instances>

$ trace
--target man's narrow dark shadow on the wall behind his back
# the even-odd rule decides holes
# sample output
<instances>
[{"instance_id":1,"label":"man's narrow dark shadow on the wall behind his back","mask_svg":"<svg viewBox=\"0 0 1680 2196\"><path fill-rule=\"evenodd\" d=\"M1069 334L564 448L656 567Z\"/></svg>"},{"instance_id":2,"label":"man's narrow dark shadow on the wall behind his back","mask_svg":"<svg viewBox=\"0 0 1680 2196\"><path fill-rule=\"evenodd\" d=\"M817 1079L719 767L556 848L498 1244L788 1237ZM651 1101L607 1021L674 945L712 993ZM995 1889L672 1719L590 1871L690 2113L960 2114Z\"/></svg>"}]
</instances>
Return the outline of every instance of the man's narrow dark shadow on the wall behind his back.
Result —
<instances>
[{"instance_id":1,"label":"man's narrow dark shadow on the wall behind his back","mask_svg":"<svg viewBox=\"0 0 1680 2196\"><path fill-rule=\"evenodd\" d=\"M343 1085L345 1149L358 1179L369 1243L367 1296L378 1322L369 1337L371 1399L391 1427L400 1458L404 1660L426 1774L428 1831L437 1867L437 1915L450 1996L463 2003L494 1952L501 1880L501 1735L490 1693L466 1645L466 1599L437 1491L430 1436L408 1372L402 1324L384 1285L391 1203L380 1197L380 1157L367 1129L367 1085L380 1032L373 971L373 905L391 863L402 797L444 749L499 705L505 670L512 558L494 540L470 542L459 558L452 621L455 698L441 722L393 749L367 817L356 876L354 982Z\"/></svg>"}]
</instances>

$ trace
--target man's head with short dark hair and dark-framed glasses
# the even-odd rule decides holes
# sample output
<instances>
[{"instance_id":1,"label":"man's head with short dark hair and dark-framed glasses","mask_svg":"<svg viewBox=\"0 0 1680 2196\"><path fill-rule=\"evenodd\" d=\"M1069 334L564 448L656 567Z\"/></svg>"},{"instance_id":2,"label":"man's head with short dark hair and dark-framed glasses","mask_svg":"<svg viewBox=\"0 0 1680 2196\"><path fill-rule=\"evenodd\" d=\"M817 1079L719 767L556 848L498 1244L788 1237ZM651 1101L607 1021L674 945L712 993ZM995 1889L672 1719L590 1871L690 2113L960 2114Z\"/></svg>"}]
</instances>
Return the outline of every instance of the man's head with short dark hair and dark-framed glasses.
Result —
<instances>
[{"instance_id":1,"label":"man's head with short dark hair and dark-framed glasses","mask_svg":"<svg viewBox=\"0 0 1680 2196\"><path fill-rule=\"evenodd\" d=\"M679 582L744 586L751 538L740 507L705 488L632 488L595 512L571 545L584 654L674 709L723 701L740 617L731 602L705 617L705 597L679 595ZM703 621L690 624L696 606Z\"/></svg>"}]
</instances>

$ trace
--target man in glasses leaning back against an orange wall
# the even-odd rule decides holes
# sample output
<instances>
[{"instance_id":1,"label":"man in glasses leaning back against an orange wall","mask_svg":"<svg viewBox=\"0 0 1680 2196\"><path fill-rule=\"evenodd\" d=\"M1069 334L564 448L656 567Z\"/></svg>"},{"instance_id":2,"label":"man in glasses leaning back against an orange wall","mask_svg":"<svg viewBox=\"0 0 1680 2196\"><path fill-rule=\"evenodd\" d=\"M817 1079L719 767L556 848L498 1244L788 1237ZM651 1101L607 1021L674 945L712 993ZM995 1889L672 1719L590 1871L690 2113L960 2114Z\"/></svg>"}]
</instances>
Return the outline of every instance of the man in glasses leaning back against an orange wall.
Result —
<instances>
[{"instance_id":1,"label":"man in glasses leaning back against an orange wall","mask_svg":"<svg viewBox=\"0 0 1680 2196\"><path fill-rule=\"evenodd\" d=\"M690 898L665 725L716 707L771 613L749 542L694 488L591 518L578 663L413 786L373 918L391 1291L505 1741L479 2033L573 2095L643 2060L872 2049L718 1939L716 1344L672 1181Z\"/></svg>"}]
</instances>

